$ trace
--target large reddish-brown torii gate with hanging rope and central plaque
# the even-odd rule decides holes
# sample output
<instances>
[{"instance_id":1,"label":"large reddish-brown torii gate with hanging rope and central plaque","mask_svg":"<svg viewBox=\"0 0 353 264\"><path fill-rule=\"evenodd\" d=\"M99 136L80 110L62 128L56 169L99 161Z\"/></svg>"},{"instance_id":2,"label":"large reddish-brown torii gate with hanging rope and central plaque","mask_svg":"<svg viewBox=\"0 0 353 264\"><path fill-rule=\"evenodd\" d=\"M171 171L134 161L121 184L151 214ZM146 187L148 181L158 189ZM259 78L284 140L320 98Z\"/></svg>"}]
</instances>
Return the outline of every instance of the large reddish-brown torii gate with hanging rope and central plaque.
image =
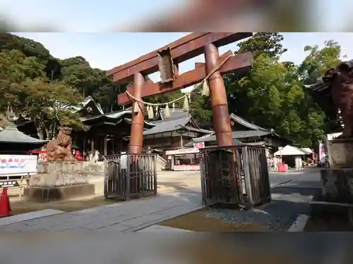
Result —
<instances>
[{"instance_id":1,"label":"large reddish-brown torii gate with hanging rope and central plaque","mask_svg":"<svg viewBox=\"0 0 353 264\"><path fill-rule=\"evenodd\" d=\"M220 56L218 47L251 36L252 33L249 32L191 33L161 49L108 70L107 75L112 77L114 82L119 82L120 84L133 81L133 86L128 87L127 91L139 100L145 96L164 94L190 87L210 75L208 77L208 85L213 111L213 130L215 130L217 146L232 146L234 142L222 75L249 72L253 65L253 56L249 52L232 56L232 51L227 51ZM205 63L196 63L194 70L179 75L178 63L201 54L205 54ZM227 61L225 61L226 58L228 58ZM223 63L224 61L225 63ZM221 65L221 63L223 64ZM215 70L217 68L219 69ZM145 75L150 75L158 70L161 72L161 82L145 82ZM132 103L128 94L122 93L118 95L119 105L128 103ZM139 106L141 111L133 113L131 123L128 152L132 154L141 153L143 149L144 107L142 103L139 103Z\"/></svg>"}]
</instances>

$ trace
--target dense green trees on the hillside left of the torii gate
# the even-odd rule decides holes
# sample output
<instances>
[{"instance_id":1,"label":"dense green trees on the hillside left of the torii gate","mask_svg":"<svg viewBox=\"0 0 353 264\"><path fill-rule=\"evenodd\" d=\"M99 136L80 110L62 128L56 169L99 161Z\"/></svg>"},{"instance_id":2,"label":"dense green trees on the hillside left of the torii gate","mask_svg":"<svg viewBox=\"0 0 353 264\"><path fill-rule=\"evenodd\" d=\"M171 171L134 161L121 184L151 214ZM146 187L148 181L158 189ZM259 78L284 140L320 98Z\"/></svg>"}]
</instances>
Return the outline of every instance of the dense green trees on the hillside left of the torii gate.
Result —
<instances>
[{"instance_id":1,"label":"dense green trees on the hillside left of the torii gate","mask_svg":"<svg viewBox=\"0 0 353 264\"><path fill-rule=\"evenodd\" d=\"M104 70L91 68L83 57L61 60L32 39L0 34L0 111L11 104L17 115L35 120L44 138L53 137L59 126L88 129L68 108L85 96L106 111L119 109L114 88Z\"/></svg>"}]
</instances>

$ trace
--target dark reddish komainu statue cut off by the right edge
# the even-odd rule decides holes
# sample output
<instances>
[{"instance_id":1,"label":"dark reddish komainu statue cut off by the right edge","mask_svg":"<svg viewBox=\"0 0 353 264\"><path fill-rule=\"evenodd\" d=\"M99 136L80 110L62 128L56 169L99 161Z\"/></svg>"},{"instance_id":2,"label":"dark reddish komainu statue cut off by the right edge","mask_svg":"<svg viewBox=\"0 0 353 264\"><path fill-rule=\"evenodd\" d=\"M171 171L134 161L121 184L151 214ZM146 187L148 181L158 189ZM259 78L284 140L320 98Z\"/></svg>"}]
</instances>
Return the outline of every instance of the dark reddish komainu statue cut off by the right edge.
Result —
<instances>
[{"instance_id":1,"label":"dark reddish komainu statue cut off by the right edge","mask_svg":"<svg viewBox=\"0 0 353 264\"><path fill-rule=\"evenodd\" d=\"M353 137L353 60L340 63L331 68L322 78L331 88L333 102L340 109L345 127L340 137Z\"/></svg>"}]
</instances>

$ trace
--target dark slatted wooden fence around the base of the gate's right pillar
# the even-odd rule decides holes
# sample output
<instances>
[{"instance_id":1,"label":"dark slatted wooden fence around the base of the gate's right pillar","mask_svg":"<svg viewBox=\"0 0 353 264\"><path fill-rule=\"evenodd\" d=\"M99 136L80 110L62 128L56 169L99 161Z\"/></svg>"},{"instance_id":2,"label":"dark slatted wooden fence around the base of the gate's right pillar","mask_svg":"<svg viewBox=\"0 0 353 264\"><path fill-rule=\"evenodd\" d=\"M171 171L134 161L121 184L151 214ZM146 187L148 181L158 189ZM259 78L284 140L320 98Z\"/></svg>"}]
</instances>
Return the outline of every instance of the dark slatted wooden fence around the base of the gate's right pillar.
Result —
<instances>
[{"instance_id":1,"label":"dark slatted wooden fence around the base of the gate's right pillar","mask_svg":"<svg viewBox=\"0 0 353 264\"><path fill-rule=\"evenodd\" d=\"M227 146L201 149L204 205L256 206L271 201L265 148Z\"/></svg>"}]
</instances>

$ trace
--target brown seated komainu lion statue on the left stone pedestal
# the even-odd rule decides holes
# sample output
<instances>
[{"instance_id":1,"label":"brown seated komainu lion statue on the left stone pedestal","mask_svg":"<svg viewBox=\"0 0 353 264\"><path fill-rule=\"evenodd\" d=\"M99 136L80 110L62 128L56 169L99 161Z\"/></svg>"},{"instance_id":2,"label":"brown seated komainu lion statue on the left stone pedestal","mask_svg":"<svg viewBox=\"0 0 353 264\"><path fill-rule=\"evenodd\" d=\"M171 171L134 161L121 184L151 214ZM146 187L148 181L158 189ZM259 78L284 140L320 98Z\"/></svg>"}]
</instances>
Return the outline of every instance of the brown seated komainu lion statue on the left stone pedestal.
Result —
<instances>
[{"instance_id":1,"label":"brown seated komainu lion statue on the left stone pedestal","mask_svg":"<svg viewBox=\"0 0 353 264\"><path fill-rule=\"evenodd\" d=\"M71 143L71 127L59 127L56 139L47 144L47 161L74 161Z\"/></svg>"}]
</instances>

